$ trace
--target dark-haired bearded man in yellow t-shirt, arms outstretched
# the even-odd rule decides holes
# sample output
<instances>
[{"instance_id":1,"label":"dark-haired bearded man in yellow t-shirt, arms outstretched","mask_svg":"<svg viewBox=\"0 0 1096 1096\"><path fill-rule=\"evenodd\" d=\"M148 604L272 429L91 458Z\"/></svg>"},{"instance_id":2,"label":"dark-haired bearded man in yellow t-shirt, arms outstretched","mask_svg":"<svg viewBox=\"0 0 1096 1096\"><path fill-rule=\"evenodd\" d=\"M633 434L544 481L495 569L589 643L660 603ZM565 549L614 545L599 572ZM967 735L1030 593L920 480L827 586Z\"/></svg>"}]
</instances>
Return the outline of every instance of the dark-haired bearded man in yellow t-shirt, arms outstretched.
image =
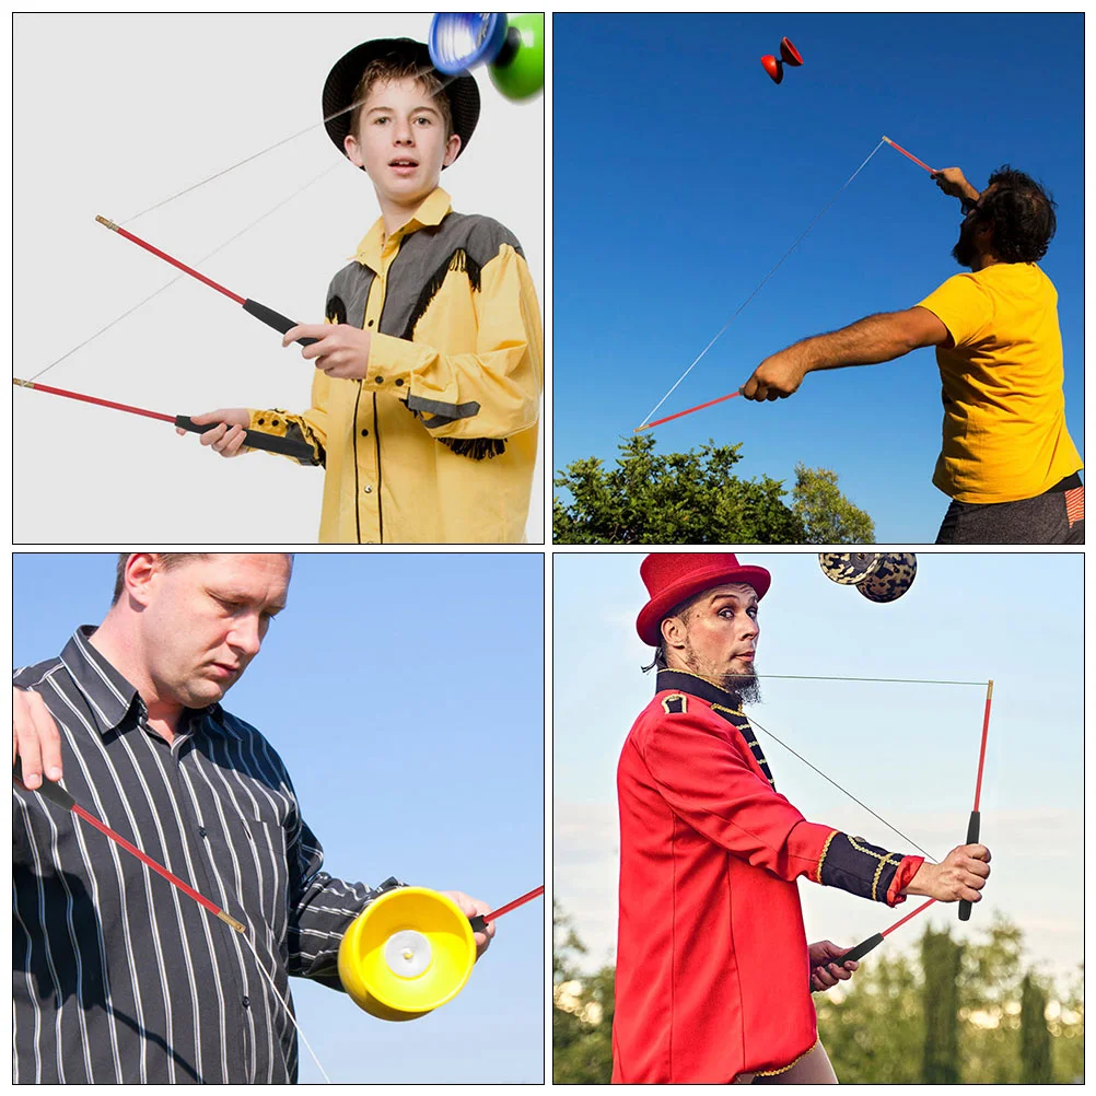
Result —
<instances>
[{"instance_id":1,"label":"dark-haired bearded man in yellow t-shirt, arms outstretched","mask_svg":"<svg viewBox=\"0 0 1096 1096\"><path fill-rule=\"evenodd\" d=\"M951 254L970 273L948 278L914 308L774 354L742 395L780 399L815 369L935 346L944 442L933 482L952 500L936 543L1084 544L1084 465L1065 426L1058 292L1036 265L1054 235L1054 202L1007 165L981 194L958 168L933 178L962 202Z\"/></svg>"}]
</instances>

